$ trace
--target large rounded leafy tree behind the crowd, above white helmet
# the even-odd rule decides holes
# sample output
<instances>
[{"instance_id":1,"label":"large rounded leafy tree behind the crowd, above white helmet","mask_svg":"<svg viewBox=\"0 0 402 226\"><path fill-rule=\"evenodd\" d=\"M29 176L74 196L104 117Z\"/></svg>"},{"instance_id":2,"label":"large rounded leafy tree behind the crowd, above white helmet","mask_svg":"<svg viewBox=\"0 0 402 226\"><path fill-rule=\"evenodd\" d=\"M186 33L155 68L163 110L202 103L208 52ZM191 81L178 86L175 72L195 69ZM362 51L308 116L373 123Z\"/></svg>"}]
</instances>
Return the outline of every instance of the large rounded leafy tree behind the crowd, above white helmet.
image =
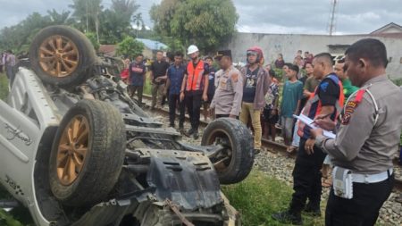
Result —
<instances>
[{"instance_id":1,"label":"large rounded leafy tree behind the crowd, above white helmet","mask_svg":"<svg viewBox=\"0 0 402 226\"><path fill-rule=\"evenodd\" d=\"M239 19L231 0L163 0L150 14L155 31L168 38L167 44L176 49L195 44L205 53L227 41Z\"/></svg>"}]
</instances>

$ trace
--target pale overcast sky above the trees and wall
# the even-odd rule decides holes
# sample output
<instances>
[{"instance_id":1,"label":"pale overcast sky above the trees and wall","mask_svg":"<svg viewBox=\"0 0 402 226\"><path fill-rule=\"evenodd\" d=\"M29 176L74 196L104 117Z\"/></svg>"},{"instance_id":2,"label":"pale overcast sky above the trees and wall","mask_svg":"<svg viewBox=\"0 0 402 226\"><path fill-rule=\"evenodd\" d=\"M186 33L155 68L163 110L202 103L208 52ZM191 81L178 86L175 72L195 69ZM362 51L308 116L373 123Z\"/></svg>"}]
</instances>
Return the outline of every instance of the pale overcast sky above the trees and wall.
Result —
<instances>
[{"instance_id":1,"label":"pale overcast sky above the trees and wall","mask_svg":"<svg viewBox=\"0 0 402 226\"><path fill-rule=\"evenodd\" d=\"M0 0L0 29L23 20L29 13L70 10L71 0ZM139 12L152 27L149 9L161 0L137 0ZM257 33L327 34L331 0L234 0L239 13L238 29ZM338 0L337 34L364 34L389 22L402 25L400 0ZM110 7L111 0L104 0Z\"/></svg>"}]
</instances>

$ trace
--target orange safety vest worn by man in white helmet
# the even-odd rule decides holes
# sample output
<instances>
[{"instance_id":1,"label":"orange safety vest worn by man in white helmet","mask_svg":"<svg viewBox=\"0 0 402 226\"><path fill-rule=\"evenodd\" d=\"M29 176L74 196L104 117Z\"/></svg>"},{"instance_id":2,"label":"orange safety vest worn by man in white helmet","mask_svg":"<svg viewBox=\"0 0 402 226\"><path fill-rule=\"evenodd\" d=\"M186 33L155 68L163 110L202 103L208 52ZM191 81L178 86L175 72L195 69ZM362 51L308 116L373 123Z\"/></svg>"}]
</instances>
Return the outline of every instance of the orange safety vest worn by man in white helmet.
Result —
<instances>
[{"instance_id":1,"label":"orange safety vest worn by man in white helmet","mask_svg":"<svg viewBox=\"0 0 402 226\"><path fill-rule=\"evenodd\" d=\"M200 60L196 68L194 63L187 64L187 85L186 91L197 91L204 89L204 61Z\"/></svg>"}]
</instances>

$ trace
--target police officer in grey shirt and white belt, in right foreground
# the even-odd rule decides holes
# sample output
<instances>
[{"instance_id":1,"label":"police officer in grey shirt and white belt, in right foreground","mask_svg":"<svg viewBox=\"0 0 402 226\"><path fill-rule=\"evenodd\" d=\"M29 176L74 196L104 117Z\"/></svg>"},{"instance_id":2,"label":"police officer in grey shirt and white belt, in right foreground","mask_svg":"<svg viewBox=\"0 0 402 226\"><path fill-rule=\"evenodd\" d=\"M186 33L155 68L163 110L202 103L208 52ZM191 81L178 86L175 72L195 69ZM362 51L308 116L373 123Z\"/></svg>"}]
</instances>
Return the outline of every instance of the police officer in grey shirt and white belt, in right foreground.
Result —
<instances>
[{"instance_id":1,"label":"police officer in grey shirt and white belt, in right foreground","mask_svg":"<svg viewBox=\"0 0 402 226\"><path fill-rule=\"evenodd\" d=\"M386 48L377 39L365 38L350 46L346 73L360 89L349 97L335 139L323 137L320 129L312 130L315 145L331 155L334 171L336 167L350 171L353 181L351 197L339 192L335 195L331 189L325 212L327 226L374 225L391 193L392 158L402 129L402 93L387 79L387 63ZM321 117L317 117L317 124L331 129L333 123Z\"/></svg>"}]
</instances>

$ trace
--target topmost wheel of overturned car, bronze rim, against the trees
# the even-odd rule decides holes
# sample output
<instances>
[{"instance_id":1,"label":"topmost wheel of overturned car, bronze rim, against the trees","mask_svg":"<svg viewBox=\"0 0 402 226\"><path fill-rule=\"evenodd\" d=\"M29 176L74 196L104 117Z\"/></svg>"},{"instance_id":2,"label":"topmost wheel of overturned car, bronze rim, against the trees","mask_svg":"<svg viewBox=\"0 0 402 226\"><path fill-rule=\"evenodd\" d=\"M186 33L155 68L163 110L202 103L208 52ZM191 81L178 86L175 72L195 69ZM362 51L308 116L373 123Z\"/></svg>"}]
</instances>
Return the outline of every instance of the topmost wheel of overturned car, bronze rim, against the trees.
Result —
<instances>
[{"instance_id":1,"label":"topmost wheel of overturned car, bronze rim, against the trees","mask_svg":"<svg viewBox=\"0 0 402 226\"><path fill-rule=\"evenodd\" d=\"M92 75L96 53L78 29L56 25L38 32L29 48L29 61L43 82L69 88Z\"/></svg>"}]
</instances>

